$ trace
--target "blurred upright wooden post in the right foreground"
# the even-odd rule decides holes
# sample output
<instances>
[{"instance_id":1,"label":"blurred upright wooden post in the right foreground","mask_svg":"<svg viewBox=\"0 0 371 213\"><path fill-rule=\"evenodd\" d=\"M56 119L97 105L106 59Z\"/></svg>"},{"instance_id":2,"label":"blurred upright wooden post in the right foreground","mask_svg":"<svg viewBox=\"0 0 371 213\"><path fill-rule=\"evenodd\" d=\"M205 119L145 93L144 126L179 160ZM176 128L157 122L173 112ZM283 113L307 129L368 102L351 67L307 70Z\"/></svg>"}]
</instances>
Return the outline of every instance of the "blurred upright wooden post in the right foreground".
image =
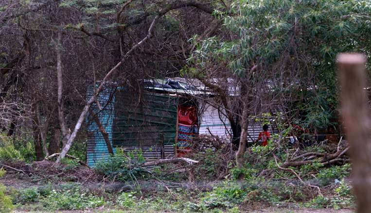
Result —
<instances>
[{"instance_id":1,"label":"blurred upright wooden post in the right foreground","mask_svg":"<svg viewBox=\"0 0 371 213\"><path fill-rule=\"evenodd\" d=\"M371 211L371 125L366 94L366 58L362 54L337 56L341 89L341 116L350 144L357 213Z\"/></svg>"}]
</instances>

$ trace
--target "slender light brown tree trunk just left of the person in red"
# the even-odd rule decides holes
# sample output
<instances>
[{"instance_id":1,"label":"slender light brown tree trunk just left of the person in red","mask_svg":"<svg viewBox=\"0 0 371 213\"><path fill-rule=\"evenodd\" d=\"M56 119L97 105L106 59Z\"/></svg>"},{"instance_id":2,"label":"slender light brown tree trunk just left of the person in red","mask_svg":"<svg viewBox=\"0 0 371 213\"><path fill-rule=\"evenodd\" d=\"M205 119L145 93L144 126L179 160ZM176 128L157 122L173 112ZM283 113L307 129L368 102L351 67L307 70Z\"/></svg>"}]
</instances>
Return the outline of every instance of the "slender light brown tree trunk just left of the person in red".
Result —
<instances>
[{"instance_id":1,"label":"slender light brown tree trunk just left of the person in red","mask_svg":"<svg viewBox=\"0 0 371 213\"><path fill-rule=\"evenodd\" d=\"M236 164L237 168L242 168L244 165L244 154L246 150L246 143L247 143L247 103L244 101L243 103L243 111L242 111L242 117L240 119L241 123L241 137L240 137L240 145L238 147L238 150L236 152Z\"/></svg>"}]
</instances>

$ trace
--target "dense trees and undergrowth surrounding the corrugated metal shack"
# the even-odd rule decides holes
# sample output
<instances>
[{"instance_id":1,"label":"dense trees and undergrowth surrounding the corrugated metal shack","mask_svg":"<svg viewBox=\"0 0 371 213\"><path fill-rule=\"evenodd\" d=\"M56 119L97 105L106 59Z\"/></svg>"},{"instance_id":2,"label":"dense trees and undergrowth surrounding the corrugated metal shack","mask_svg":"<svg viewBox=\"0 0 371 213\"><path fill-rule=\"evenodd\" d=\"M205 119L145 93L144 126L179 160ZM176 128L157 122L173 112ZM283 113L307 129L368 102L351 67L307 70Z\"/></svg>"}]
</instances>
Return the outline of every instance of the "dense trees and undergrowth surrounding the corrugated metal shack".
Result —
<instances>
[{"instance_id":1,"label":"dense trees and undergrowth surrounding the corrugated metal shack","mask_svg":"<svg viewBox=\"0 0 371 213\"><path fill-rule=\"evenodd\" d=\"M369 0L0 0L0 212L353 208L346 140L314 134L340 135L336 55L369 58L370 33ZM195 138L195 164L117 148L88 168L102 90L140 106L143 79L174 77L210 88L195 98L231 140ZM251 120L277 126L268 146L247 144Z\"/></svg>"}]
</instances>

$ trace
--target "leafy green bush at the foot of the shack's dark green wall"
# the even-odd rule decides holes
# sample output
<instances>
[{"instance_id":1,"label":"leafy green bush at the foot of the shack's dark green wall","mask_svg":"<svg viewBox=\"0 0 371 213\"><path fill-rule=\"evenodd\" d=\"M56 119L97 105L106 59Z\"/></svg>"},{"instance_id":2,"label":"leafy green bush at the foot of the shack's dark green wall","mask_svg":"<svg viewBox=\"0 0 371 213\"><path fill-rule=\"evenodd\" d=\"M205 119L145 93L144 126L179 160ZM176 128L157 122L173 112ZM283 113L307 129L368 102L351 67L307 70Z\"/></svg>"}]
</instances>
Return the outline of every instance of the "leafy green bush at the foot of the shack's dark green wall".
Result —
<instances>
[{"instance_id":1,"label":"leafy green bush at the foot of the shack's dark green wall","mask_svg":"<svg viewBox=\"0 0 371 213\"><path fill-rule=\"evenodd\" d=\"M144 161L141 149L133 150L127 154L119 149L116 154L109 156L107 161L98 162L95 169L110 178L133 181L144 177L145 170L140 167Z\"/></svg>"}]
</instances>

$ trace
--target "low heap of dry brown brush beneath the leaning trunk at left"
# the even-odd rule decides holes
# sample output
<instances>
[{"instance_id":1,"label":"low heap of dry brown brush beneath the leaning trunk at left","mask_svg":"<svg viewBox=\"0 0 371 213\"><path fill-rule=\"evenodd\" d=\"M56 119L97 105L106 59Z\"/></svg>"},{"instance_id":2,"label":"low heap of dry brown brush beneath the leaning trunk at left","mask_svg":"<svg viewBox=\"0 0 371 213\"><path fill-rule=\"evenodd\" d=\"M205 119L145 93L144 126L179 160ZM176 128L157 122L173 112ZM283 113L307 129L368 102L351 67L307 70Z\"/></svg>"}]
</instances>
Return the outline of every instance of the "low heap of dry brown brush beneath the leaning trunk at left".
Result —
<instances>
[{"instance_id":1,"label":"low heap of dry brown brush beneath the leaning trunk at left","mask_svg":"<svg viewBox=\"0 0 371 213\"><path fill-rule=\"evenodd\" d=\"M0 162L0 168L8 174L21 174L20 178L31 182L61 180L76 182L96 182L103 180L103 176L86 166L68 166L53 161L38 161L26 164L23 161Z\"/></svg>"}]
</instances>

